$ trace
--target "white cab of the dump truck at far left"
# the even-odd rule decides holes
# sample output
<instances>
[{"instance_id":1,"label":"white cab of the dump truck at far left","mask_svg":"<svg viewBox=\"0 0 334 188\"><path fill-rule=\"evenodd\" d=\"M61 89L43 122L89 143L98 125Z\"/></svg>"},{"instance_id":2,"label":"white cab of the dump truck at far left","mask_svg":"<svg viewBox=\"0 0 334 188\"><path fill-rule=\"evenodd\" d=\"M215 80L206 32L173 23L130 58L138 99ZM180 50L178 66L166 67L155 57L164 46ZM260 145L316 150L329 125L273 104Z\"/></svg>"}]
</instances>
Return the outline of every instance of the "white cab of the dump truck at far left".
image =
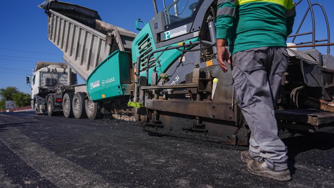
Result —
<instances>
[{"instance_id":1,"label":"white cab of the dump truck at far left","mask_svg":"<svg viewBox=\"0 0 334 188\"><path fill-rule=\"evenodd\" d=\"M37 62L32 76L27 76L35 114L46 111L50 116L61 114L63 94L73 92L69 83L76 84L76 79L75 72L68 71L65 63Z\"/></svg>"}]
</instances>

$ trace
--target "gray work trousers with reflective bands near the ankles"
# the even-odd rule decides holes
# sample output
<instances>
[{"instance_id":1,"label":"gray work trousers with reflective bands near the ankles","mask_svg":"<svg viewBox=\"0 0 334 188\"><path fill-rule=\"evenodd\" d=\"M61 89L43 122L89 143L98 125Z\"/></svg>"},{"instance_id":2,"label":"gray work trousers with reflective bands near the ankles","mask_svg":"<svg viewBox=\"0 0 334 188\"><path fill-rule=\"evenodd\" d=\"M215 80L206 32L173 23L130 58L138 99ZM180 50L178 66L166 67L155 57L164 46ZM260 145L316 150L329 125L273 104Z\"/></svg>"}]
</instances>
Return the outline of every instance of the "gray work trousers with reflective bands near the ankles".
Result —
<instances>
[{"instance_id":1,"label":"gray work trousers with reflective bands near the ankles","mask_svg":"<svg viewBox=\"0 0 334 188\"><path fill-rule=\"evenodd\" d=\"M261 47L232 56L237 103L251 129L249 155L272 170L288 168L287 147L278 137L274 108L289 63L285 47Z\"/></svg>"}]
</instances>

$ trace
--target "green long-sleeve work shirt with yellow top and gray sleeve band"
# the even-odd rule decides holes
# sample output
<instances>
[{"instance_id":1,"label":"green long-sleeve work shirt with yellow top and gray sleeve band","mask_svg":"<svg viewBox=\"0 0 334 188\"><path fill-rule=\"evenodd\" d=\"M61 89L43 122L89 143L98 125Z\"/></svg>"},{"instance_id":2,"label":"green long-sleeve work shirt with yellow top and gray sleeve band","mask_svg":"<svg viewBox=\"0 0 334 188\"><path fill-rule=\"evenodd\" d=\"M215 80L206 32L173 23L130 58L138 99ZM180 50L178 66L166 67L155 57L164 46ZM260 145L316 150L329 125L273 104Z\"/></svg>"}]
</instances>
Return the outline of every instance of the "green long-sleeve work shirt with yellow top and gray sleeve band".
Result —
<instances>
[{"instance_id":1,"label":"green long-sleeve work shirt with yellow top and gray sleeve band","mask_svg":"<svg viewBox=\"0 0 334 188\"><path fill-rule=\"evenodd\" d=\"M286 46L295 16L292 0L218 0L217 39L228 39L232 54Z\"/></svg>"}]
</instances>

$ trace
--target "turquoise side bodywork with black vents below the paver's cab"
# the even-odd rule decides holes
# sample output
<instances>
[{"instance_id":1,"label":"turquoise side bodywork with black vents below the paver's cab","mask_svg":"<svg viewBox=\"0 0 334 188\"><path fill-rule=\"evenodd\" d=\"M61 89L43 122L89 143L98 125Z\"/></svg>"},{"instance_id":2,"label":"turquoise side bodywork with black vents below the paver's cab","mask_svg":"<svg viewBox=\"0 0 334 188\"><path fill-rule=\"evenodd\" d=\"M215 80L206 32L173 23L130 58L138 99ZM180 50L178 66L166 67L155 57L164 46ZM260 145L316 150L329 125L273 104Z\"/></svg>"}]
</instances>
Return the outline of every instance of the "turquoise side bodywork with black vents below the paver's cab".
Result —
<instances>
[{"instance_id":1,"label":"turquoise side bodywork with black vents below the paver's cab","mask_svg":"<svg viewBox=\"0 0 334 188\"><path fill-rule=\"evenodd\" d=\"M180 41L180 42L189 43L189 41L191 42L198 41L198 37L187 40L187 41ZM172 46L179 45L180 42L172 44ZM143 67L146 67L147 56L151 52L157 50L149 23L146 24L143 27L143 29L138 33L137 37L132 42L131 48L132 48L132 63L135 64L137 62L137 57L141 57L142 62L141 62L140 68L142 69ZM165 47L160 48L160 49L164 49L164 48ZM157 56L160 53L161 52L155 53L153 57L157 58ZM156 62L158 74L162 72L163 73L166 72L166 70L172 65L172 63L174 63L176 59L180 58L180 56L181 56L181 52L176 49L165 51L163 55L159 58L161 67L159 67L159 64ZM151 74L153 73L153 69L154 67L150 68L149 76L151 76ZM146 71L141 72L140 76L146 76ZM150 78L149 78L149 84L151 84Z\"/></svg>"}]
</instances>

